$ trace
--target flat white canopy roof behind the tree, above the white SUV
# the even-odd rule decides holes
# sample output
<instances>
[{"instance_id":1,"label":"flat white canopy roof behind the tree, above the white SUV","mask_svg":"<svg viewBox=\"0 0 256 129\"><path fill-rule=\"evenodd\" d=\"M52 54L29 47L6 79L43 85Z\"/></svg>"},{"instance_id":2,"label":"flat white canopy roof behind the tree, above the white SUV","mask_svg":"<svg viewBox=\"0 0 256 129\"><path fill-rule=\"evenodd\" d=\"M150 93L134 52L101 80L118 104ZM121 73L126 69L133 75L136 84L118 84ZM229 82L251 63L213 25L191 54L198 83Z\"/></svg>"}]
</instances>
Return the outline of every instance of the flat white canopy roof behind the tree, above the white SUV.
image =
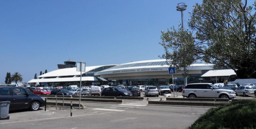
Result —
<instances>
[{"instance_id":1,"label":"flat white canopy roof behind the tree, above the white SUV","mask_svg":"<svg viewBox=\"0 0 256 129\"><path fill-rule=\"evenodd\" d=\"M210 76L229 76L236 74L233 69L223 69L223 70L209 70L204 73L201 77L210 77Z\"/></svg>"}]
</instances>

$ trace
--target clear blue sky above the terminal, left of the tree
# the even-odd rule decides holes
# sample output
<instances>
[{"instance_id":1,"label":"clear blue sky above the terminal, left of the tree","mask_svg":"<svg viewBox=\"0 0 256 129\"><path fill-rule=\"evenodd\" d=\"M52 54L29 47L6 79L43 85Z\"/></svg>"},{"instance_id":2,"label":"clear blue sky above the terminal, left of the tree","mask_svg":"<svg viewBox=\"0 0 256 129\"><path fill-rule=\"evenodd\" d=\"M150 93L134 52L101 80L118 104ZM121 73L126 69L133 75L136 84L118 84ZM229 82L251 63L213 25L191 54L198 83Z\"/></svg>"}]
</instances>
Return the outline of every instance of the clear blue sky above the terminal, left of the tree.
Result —
<instances>
[{"instance_id":1,"label":"clear blue sky above the terminal, left of the tree","mask_svg":"<svg viewBox=\"0 0 256 129\"><path fill-rule=\"evenodd\" d=\"M186 28L201 0L1 0L0 82L7 72L27 82L69 54L87 66L159 59L161 30L181 22L179 2L188 5Z\"/></svg>"}]
</instances>

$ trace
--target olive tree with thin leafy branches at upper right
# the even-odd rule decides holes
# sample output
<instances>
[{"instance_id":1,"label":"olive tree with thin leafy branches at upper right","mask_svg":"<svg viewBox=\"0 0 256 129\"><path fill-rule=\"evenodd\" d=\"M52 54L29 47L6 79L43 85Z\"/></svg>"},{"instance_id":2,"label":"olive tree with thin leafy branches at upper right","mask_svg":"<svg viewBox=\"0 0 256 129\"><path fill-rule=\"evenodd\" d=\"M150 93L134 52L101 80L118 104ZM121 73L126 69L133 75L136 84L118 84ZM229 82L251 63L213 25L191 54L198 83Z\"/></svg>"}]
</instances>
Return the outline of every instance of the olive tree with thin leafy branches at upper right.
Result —
<instances>
[{"instance_id":1,"label":"olive tree with thin leafy branches at upper right","mask_svg":"<svg viewBox=\"0 0 256 129\"><path fill-rule=\"evenodd\" d=\"M200 60L231 68L239 78L256 78L255 2L248 6L247 0L203 0L193 7L189 29L162 32L162 57L170 65L186 67Z\"/></svg>"}]
</instances>

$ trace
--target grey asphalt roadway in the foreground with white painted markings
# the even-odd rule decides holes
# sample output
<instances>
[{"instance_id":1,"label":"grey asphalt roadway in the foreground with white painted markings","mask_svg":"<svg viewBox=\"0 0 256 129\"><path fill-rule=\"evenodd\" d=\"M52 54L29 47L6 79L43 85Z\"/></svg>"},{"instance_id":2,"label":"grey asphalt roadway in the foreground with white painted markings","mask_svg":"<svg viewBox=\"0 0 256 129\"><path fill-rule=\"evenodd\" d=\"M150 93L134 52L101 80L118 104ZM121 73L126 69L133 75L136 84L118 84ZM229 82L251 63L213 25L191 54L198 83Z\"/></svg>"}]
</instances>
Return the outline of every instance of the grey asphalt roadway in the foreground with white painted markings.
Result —
<instances>
[{"instance_id":1,"label":"grey asphalt roadway in the foreground with white painted markings","mask_svg":"<svg viewBox=\"0 0 256 129\"><path fill-rule=\"evenodd\" d=\"M55 110L45 112L21 110L10 112L10 120L0 120L1 129L57 128L173 128L183 129L191 125L208 108L151 106L147 101L130 100L124 104L83 103L87 109Z\"/></svg>"}]
</instances>

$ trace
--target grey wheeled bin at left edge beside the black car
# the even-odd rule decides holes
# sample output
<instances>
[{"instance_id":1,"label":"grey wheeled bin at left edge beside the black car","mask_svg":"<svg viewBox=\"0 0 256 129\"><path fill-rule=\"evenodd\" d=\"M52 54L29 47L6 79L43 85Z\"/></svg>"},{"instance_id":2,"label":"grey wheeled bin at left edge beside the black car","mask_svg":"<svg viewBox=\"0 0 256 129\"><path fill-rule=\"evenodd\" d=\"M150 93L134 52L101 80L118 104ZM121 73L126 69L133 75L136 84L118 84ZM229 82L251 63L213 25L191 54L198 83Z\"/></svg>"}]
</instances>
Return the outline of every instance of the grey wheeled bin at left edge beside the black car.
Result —
<instances>
[{"instance_id":1,"label":"grey wheeled bin at left edge beside the black car","mask_svg":"<svg viewBox=\"0 0 256 129\"><path fill-rule=\"evenodd\" d=\"M10 106L10 101L2 101L2 102L0 102L0 120L2 120L2 119L10 119L10 116L9 116L9 106Z\"/></svg>"}]
</instances>

